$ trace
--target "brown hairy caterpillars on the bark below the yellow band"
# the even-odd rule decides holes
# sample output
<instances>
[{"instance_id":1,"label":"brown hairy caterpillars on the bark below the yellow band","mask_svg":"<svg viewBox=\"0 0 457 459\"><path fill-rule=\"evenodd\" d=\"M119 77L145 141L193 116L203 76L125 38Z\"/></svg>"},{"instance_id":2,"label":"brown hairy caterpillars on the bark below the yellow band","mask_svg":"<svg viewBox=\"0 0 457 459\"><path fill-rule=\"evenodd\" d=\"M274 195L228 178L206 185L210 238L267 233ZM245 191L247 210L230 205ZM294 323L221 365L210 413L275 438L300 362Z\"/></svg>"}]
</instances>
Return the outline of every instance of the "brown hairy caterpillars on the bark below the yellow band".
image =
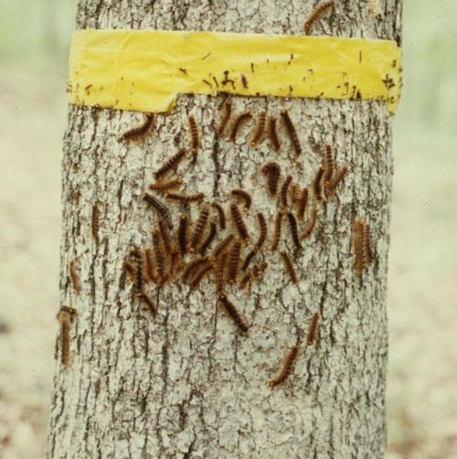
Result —
<instances>
[{"instance_id":1,"label":"brown hairy caterpillars on the bark below the yellow band","mask_svg":"<svg viewBox=\"0 0 457 459\"><path fill-rule=\"evenodd\" d=\"M222 105L221 119L217 135L224 135L232 117L231 101ZM281 122L288 133L295 155L302 154L299 137L289 113L283 110ZM250 112L234 117L229 139L236 141L240 126L252 119ZM135 125L123 133L120 139L140 138L154 128L155 115L145 114L143 123ZM192 155L197 161L201 146L200 134L195 117L188 117L189 145L178 149L175 155L154 171L154 181L143 193L143 202L157 219L151 229L150 243L140 249L133 247L123 261L123 270L132 283L133 297L145 306L152 315L157 314L157 305L151 295L151 284L164 287L167 283L182 280L191 289L197 289L208 279L213 285L215 301L225 311L228 318L239 331L248 334L250 324L239 311L239 305L230 298L230 289L248 290L252 283L260 283L268 268L266 253L277 253L283 263L284 271L292 284L299 282L294 261L303 250L303 240L311 236L318 218L318 208L335 195L335 190L343 182L348 169L345 165L335 165L335 155L331 145L325 145L322 163L310 184L304 186L292 175L282 176L281 166L270 161L260 168L265 178L265 193L276 200L277 208L273 219L262 212L254 212L257 225L250 228L247 216L253 208L253 198L246 189L235 188L229 193L228 202L208 200L204 193L185 192L184 180L177 175L181 163ZM278 135L277 118L260 112L254 130L250 135L250 145L256 146L268 136L274 150L281 148ZM197 207L197 219L192 220L189 212L173 212L173 204ZM172 206L170 206L172 205ZM182 207L181 207L182 208ZM95 243L99 242L100 210L94 204L91 213L91 234ZM271 220L269 229L268 221ZM285 222L284 222L285 221ZM283 226L287 225L287 229ZM254 236L255 235L255 236ZM369 249L369 230L363 219L357 219L353 228L353 241L356 274L361 274L371 262ZM287 251L292 247L293 251ZM76 264L69 262L69 278L77 294L80 293L80 278ZM70 311L71 309L71 311ZM61 324L62 362L69 362L69 324L75 311L62 306L58 321ZM306 347L315 342L318 313L310 319ZM300 355L300 344L290 347L279 373L269 381L275 387L292 374Z\"/></svg>"}]
</instances>

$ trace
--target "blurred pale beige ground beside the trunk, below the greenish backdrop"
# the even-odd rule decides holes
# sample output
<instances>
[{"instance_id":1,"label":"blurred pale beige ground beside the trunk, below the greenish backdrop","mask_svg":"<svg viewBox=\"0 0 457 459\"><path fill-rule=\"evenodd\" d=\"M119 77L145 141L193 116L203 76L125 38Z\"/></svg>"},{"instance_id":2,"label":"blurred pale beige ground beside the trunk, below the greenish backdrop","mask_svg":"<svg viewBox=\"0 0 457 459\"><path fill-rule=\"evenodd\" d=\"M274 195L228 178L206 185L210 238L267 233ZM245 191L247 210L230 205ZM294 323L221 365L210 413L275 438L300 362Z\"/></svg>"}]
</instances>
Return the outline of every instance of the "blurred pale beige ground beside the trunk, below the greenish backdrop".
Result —
<instances>
[{"instance_id":1,"label":"blurred pale beige ground beside the trunk, below the greenish backdrop","mask_svg":"<svg viewBox=\"0 0 457 459\"><path fill-rule=\"evenodd\" d=\"M64 76L0 76L0 457L45 457ZM61 97L56 98L56 93ZM457 457L455 139L396 120L388 458ZM452 150L453 148L453 150ZM453 327L453 328L452 328Z\"/></svg>"}]
</instances>

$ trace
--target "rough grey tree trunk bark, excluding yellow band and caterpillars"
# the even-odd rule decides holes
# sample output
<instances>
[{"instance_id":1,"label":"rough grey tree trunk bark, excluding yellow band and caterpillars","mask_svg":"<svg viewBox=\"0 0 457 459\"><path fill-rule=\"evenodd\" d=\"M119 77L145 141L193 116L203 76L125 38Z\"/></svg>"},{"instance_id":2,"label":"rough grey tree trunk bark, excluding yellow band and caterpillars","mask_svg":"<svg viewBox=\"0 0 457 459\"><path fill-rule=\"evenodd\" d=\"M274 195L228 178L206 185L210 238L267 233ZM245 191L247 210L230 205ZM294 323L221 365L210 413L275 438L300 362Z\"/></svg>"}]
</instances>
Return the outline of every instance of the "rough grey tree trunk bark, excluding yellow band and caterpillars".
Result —
<instances>
[{"instance_id":1,"label":"rough grey tree trunk bark, excluding yellow band and caterpillars","mask_svg":"<svg viewBox=\"0 0 457 459\"><path fill-rule=\"evenodd\" d=\"M369 2L368 2L369 3ZM373 2L374 3L374 2ZM340 1L314 26L314 35L399 41L401 0ZM302 34L314 2L239 0L140 2L80 0L80 28L160 28ZM158 115L154 132L119 142L138 113L81 106L69 108L63 157L61 304L76 309L69 322L69 363L62 363L61 334L52 400L49 457L233 458L382 457L386 443L385 385L388 352L386 277L392 178L392 116L383 102L234 97L233 112L291 114L303 154L295 157L282 135L276 153L268 142L250 147L250 129L237 141L215 134L222 96L181 96L175 112ZM186 193L228 208L230 191L245 188L253 205L246 217L257 239L256 214L269 223L257 262L268 262L250 290L229 287L246 318L239 333L216 302L213 283L191 290L175 280L148 286L157 315L143 311L122 271L132 248L152 245L156 216L142 194L164 159L188 144L187 115L202 130L197 163L179 172ZM319 208L312 235L293 259L290 282L278 252L271 252L276 204L261 166L276 161L282 177L302 186L313 181L325 144L345 181ZM281 182L282 183L282 182ZM231 199L231 200L230 200ZM100 210L92 235L93 205ZM197 219L201 205L171 204L175 226L184 212ZM352 227L366 219L373 262L353 270ZM282 249L292 251L287 219ZM300 222L301 228L303 223ZM227 234L224 233L224 234ZM218 235L222 238L222 233ZM267 245L268 244L268 245ZM268 247L268 249L267 249ZM243 248L246 254L247 248ZM70 261L80 277L77 294ZM213 275L213 274L211 274ZM292 374L268 381L297 340L303 343L320 314L314 346L301 346Z\"/></svg>"}]
</instances>

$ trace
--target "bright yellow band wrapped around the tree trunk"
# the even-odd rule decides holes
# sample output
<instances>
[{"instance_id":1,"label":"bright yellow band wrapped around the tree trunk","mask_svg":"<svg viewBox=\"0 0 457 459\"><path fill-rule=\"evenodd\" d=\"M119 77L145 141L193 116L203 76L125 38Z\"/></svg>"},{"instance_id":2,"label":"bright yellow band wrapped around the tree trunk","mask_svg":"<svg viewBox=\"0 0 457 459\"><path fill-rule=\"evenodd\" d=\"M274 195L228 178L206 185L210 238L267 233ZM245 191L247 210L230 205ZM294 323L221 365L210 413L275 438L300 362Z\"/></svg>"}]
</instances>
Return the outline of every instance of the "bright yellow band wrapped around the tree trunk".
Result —
<instances>
[{"instance_id":1,"label":"bright yellow band wrapped around the tree trunk","mask_svg":"<svg viewBox=\"0 0 457 459\"><path fill-rule=\"evenodd\" d=\"M69 101L170 112L178 94L229 92L386 101L395 112L401 54L394 41L162 30L80 30Z\"/></svg>"}]
</instances>

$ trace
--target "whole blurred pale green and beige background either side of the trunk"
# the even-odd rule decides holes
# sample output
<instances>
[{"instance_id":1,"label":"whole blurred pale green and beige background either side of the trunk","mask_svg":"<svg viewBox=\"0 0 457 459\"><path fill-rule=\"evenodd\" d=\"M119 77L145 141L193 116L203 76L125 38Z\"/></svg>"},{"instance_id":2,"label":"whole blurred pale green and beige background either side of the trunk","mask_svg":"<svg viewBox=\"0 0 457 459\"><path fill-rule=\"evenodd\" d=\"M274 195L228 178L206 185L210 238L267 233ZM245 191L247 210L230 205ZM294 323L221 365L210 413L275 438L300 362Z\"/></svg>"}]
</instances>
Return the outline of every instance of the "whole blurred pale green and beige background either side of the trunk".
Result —
<instances>
[{"instance_id":1,"label":"whole blurred pale green and beige background either side of the trunk","mask_svg":"<svg viewBox=\"0 0 457 459\"><path fill-rule=\"evenodd\" d=\"M388 458L452 458L457 2L404 3L405 86L394 123L388 279ZM2 459L43 458L46 451L57 332L61 139L75 5L0 0Z\"/></svg>"}]
</instances>

